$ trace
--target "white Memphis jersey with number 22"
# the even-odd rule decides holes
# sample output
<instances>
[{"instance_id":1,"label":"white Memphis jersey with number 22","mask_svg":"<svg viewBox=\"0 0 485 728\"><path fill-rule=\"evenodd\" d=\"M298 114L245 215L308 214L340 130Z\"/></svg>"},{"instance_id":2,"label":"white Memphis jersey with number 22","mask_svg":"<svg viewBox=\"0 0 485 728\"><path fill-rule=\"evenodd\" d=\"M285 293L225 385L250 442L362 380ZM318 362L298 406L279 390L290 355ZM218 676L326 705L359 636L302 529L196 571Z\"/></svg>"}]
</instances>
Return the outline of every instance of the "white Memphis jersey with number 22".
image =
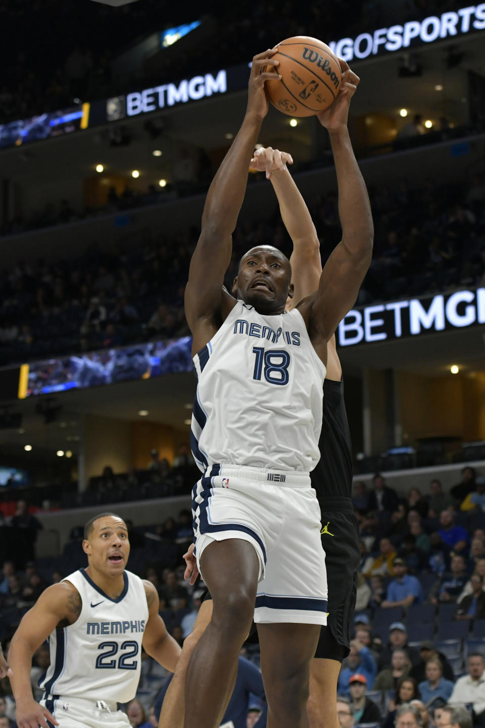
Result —
<instances>
[{"instance_id":1,"label":"white Memphis jersey with number 22","mask_svg":"<svg viewBox=\"0 0 485 728\"><path fill-rule=\"evenodd\" d=\"M39 680L45 696L68 695L127 703L140 681L148 604L140 577L124 571L124 590L111 599L79 569L71 582L82 600L73 625L49 636L50 666Z\"/></svg>"}]
</instances>

